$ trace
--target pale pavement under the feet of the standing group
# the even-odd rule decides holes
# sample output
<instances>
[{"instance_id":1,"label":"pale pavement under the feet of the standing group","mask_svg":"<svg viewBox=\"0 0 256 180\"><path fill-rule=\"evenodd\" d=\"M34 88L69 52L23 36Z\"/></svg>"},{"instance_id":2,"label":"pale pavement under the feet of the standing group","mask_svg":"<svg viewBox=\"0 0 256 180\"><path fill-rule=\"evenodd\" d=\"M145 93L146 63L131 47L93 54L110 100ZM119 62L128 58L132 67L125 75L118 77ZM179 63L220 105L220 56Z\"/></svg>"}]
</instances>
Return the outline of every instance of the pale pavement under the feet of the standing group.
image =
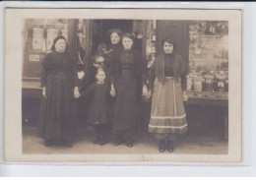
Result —
<instances>
[{"instance_id":1,"label":"pale pavement under the feet of the standing group","mask_svg":"<svg viewBox=\"0 0 256 180\"><path fill-rule=\"evenodd\" d=\"M81 128L77 132L77 141L73 148L50 147L43 145L43 140L36 136L36 128L23 127L23 153L25 154L161 154L158 150L159 142L147 132L134 137L134 147L126 145L113 146L110 141L105 146L94 145L94 129ZM173 154L226 154L228 142L218 134L207 136L188 135L175 143ZM164 151L163 153L170 153Z\"/></svg>"}]
</instances>

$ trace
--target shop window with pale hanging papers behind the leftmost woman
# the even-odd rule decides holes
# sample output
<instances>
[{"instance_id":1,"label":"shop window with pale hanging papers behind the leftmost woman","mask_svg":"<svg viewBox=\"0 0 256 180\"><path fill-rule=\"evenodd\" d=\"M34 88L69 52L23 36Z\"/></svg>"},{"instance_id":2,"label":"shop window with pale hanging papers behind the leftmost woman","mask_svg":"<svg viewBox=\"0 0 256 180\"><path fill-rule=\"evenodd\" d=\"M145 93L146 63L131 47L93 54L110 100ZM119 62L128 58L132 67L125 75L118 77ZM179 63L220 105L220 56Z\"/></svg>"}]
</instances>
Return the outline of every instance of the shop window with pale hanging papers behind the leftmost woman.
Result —
<instances>
[{"instance_id":1,"label":"shop window with pale hanging papers behind the leftmost woman","mask_svg":"<svg viewBox=\"0 0 256 180\"><path fill-rule=\"evenodd\" d=\"M54 38L63 35L68 39L68 20L28 19L25 23L25 54L23 78L39 80L41 60L51 51Z\"/></svg>"}]
</instances>

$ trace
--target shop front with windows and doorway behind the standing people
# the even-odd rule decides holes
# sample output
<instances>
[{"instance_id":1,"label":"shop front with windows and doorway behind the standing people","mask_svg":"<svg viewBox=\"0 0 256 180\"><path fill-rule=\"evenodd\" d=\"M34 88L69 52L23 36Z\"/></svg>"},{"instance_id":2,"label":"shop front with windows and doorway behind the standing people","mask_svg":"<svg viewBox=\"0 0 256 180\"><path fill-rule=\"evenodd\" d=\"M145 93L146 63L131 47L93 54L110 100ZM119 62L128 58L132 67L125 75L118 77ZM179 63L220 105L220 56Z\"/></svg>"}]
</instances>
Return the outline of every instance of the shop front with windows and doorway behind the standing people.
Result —
<instances>
[{"instance_id":1,"label":"shop front with windows and doorway behind the standing people","mask_svg":"<svg viewBox=\"0 0 256 180\"><path fill-rule=\"evenodd\" d=\"M220 126L227 138L228 29L227 22L155 20L28 19L24 26L23 123L36 124L41 98L41 60L57 35L67 38L77 71L86 76L81 85L94 81L92 57L100 42L109 43L108 30L133 32L134 48L149 62L162 52L161 39L171 36L175 50L189 65L186 104L189 127ZM83 102L80 102L83 103ZM142 129L147 129L150 100L142 101ZM80 109L83 111L83 109ZM81 115L84 117L83 113ZM201 120L201 121L200 121ZM200 121L200 122L199 122ZM201 126L198 126L201 127Z\"/></svg>"}]
</instances>

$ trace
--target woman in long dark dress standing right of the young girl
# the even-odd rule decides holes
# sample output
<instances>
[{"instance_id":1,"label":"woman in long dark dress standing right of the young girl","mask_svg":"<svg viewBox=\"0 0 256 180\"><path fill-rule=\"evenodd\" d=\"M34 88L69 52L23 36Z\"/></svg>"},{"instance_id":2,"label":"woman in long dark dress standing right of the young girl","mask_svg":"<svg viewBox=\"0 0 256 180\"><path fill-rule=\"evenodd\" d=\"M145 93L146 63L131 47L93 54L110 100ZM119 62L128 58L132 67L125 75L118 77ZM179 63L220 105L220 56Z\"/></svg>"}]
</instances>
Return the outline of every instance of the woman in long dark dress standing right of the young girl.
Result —
<instances>
[{"instance_id":1,"label":"woman in long dark dress standing right of the young girl","mask_svg":"<svg viewBox=\"0 0 256 180\"><path fill-rule=\"evenodd\" d=\"M147 95L147 64L141 53L132 48L133 36L125 33L122 39L123 50L114 54L110 66L112 96L116 96L113 107L112 134L114 145L121 144L123 138L127 147L132 147L132 135L138 124L138 102L140 89ZM142 85L142 86L141 86Z\"/></svg>"}]
</instances>

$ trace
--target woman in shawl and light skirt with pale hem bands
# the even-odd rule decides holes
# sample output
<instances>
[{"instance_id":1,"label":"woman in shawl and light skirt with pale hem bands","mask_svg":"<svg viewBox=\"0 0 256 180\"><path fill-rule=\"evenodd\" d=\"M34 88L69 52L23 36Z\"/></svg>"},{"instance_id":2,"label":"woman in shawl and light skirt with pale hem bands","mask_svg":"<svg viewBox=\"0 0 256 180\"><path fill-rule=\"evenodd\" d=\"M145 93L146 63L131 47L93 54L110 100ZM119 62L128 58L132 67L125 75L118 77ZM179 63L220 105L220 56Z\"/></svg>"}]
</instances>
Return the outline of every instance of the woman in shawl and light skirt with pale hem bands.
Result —
<instances>
[{"instance_id":1,"label":"woman in shawl and light skirt with pale hem bands","mask_svg":"<svg viewBox=\"0 0 256 180\"><path fill-rule=\"evenodd\" d=\"M149 132L160 140L159 150L173 151L176 135L187 132L187 119L183 101L188 99L186 92L187 65L173 50L174 40L162 41L163 54L160 54L150 68L150 90L153 92Z\"/></svg>"}]
</instances>

